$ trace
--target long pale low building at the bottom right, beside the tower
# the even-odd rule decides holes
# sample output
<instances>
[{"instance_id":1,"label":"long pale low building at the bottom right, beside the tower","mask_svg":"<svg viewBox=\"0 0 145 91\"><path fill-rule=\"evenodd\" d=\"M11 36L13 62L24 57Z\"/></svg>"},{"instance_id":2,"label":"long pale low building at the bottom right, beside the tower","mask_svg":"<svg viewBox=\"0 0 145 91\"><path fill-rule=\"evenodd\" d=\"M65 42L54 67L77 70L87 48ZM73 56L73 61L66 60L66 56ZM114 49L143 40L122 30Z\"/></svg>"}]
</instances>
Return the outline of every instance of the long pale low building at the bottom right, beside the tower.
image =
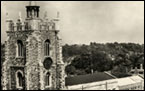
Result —
<instances>
[{"instance_id":1,"label":"long pale low building at the bottom right, beside the tower","mask_svg":"<svg viewBox=\"0 0 145 91\"><path fill-rule=\"evenodd\" d=\"M144 79L140 76L112 78L108 80L99 80L99 81L88 82L88 83L86 82L86 83L79 83L73 85L69 84L66 86L66 89L67 90L144 90Z\"/></svg>"}]
</instances>

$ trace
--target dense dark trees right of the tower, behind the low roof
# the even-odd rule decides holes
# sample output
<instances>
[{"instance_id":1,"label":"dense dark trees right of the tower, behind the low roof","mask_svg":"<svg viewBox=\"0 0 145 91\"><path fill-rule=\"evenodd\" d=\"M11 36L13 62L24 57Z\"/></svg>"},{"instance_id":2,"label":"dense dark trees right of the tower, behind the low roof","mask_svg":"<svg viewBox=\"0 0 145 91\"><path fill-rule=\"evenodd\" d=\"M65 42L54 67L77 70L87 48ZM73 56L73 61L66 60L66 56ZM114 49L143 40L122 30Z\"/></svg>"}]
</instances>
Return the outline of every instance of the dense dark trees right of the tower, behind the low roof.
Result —
<instances>
[{"instance_id":1,"label":"dense dark trees right of the tower, behind the low roof","mask_svg":"<svg viewBox=\"0 0 145 91\"><path fill-rule=\"evenodd\" d=\"M90 43L90 45L64 45L63 57L68 75L89 74L92 71L111 71L117 77L128 76L131 67L144 64L144 44ZM67 60L74 57L73 60Z\"/></svg>"}]
</instances>

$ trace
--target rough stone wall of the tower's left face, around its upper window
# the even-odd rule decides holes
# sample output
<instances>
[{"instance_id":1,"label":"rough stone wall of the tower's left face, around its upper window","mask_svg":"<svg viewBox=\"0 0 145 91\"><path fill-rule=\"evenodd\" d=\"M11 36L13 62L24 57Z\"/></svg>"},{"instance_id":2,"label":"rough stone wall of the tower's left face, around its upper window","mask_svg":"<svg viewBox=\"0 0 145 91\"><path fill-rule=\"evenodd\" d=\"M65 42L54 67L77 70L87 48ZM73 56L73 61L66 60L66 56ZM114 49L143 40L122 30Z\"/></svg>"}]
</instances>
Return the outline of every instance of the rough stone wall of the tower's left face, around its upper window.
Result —
<instances>
[{"instance_id":1,"label":"rough stone wall of the tower's left face, around its upper window","mask_svg":"<svg viewBox=\"0 0 145 91\"><path fill-rule=\"evenodd\" d=\"M25 40L27 39L27 36L31 34L30 31L7 31L7 42L5 44L6 50L5 50L5 62L3 63L3 89L12 89L12 85L15 84L11 81L14 79L11 79L11 67L24 67L25 65ZM17 48L17 40L21 40L24 45L24 57L19 58L16 56L16 48ZM21 69L20 69L21 70Z\"/></svg>"}]
</instances>

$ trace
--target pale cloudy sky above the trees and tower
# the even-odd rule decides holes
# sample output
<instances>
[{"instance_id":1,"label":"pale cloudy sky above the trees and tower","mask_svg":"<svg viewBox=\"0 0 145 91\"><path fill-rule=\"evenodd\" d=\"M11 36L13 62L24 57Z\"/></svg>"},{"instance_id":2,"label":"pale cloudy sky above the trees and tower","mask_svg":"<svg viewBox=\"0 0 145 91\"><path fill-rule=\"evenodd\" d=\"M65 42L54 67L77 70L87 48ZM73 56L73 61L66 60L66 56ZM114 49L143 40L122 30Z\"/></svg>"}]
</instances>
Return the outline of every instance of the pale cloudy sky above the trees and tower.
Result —
<instances>
[{"instance_id":1,"label":"pale cloudy sky above the trees and tower","mask_svg":"<svg viewBox=\"0 0 145 91\"><path fill-rule=\"evenodd\" d=\"M28 1L1 1L1 41L6 40L6 13L16 21L19 12L26 18ZM40 17L60 13L63 44L139 43L144 44L144 1L37 1Z\"/></svg>"}]
</instances>

